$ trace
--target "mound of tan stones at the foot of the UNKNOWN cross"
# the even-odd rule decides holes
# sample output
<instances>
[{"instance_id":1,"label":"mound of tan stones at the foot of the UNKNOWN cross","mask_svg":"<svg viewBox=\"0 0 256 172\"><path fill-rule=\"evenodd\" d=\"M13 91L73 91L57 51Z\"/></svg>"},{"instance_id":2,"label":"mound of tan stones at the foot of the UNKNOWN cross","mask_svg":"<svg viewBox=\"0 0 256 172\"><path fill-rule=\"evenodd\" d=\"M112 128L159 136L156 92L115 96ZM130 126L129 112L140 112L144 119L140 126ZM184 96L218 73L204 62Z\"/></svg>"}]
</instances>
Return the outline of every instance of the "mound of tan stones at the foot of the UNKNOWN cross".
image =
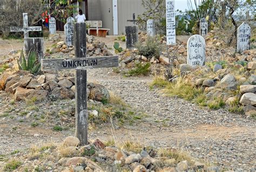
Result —
<instances>
[{"instance_id":1,"label":"mound of tan stones at the foot of the UNKNOWN cross","mask_svg":"<svg viewBox=\"0 0 256 172\"><path fill-rule=\"evenodd\" d=\"M176 160L167 157L156 149L142 149L139 153L122 150L114 146L105 146L100 140L92 144L79 146L76 137L68 137L59 147L62 156L58 166L62 172L68 171L219 171L218 167L206 167L194 160ZM65 151L63 151L65 150ZM172 151L172 150L168 150ZM176 150L173 150L176 151ZM92 161L94 160L94 161ZM119 169L119 170L118 170Z\"/></svg>"}]
</instances>

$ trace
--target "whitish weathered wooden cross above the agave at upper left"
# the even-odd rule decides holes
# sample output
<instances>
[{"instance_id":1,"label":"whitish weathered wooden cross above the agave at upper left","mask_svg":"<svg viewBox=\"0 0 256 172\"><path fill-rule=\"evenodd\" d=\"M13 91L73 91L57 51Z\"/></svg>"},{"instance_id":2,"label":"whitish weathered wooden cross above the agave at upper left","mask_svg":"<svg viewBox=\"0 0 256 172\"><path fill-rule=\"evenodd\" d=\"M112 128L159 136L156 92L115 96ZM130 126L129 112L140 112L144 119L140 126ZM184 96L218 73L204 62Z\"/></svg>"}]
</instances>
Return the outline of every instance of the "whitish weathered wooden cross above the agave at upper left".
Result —
<instances>
[{"instance_id":1,"label":"whitish weathered wooden cross above the agave at upper left","mask_svg":"<svg viewBox=\"0 0 256 172\"><path fill-rule=\"evenodd\" d=\"M42 31L42 27L29 27L28 13L23 13L23 27L11 27L11 32L24 32L24 38L29 38L29 31Z\"/></svg>"}]
</instances>

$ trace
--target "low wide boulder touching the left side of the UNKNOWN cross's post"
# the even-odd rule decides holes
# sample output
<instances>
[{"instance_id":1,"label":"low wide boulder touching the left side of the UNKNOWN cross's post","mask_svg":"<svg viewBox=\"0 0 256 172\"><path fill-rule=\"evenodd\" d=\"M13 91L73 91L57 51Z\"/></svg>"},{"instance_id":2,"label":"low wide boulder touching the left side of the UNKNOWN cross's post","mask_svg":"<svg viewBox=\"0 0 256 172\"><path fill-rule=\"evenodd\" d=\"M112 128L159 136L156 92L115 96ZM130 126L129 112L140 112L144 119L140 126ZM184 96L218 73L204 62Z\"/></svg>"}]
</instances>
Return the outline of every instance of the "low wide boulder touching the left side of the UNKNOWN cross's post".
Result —
<instances>
[{"instance_id":1,"label":"low wide boulder touching the left side of the UNKNOWN cross's post","mask_svg":"<svg viewBox=\"0 0 256 172\"><path fill-rule=\"evenodd\" d=\"M50 98L56 99L73 99L75 98L75 93L69 89L63 87L57 87L51 91Z\"/></svg>"}]
</instances>

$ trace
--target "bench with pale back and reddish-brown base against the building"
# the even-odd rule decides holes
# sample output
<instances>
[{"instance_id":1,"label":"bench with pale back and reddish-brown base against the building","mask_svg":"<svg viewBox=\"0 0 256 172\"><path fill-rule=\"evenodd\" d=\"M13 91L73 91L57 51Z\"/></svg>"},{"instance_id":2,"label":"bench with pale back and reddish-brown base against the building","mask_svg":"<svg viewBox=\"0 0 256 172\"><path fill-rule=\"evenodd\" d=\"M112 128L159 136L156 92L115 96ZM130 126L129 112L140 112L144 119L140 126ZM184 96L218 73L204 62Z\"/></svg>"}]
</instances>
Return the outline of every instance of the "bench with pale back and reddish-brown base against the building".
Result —
<instances>
[{"instance_id":1,"label":"bench with pale back and reddish-brown base against the building","mask_svg":"<svg viewBox=\"0 0 256 172\"><path fill-rule=\"evenodd\" d=\"M102 27L101 20L87 20L86 25L90 25L88 34L97 37L106 37L107 32L110 30L109 28L99 28Z\"/></svg>"}]
</instances>

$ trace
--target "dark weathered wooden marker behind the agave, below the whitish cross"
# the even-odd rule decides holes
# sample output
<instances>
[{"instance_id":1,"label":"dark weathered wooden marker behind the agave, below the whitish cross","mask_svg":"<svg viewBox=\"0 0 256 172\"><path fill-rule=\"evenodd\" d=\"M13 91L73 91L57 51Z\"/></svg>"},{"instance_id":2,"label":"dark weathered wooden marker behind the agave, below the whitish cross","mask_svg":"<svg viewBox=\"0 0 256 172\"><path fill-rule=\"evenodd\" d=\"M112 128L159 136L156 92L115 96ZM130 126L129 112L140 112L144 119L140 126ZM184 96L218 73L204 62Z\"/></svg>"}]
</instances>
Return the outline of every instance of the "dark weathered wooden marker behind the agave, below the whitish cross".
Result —
<instances>
[{"instance_id":1,"label":"dark weathered wooden marker behind the agave, below the whitish cross","mask_svg":"<svg viewBox=\"0 0 256 172\"><path fill-rule=\"evenodd\" d=\"M44 38L24 38L26 55L35 51L39 60L44 58Z\"/></svg>"}]
</instances>

